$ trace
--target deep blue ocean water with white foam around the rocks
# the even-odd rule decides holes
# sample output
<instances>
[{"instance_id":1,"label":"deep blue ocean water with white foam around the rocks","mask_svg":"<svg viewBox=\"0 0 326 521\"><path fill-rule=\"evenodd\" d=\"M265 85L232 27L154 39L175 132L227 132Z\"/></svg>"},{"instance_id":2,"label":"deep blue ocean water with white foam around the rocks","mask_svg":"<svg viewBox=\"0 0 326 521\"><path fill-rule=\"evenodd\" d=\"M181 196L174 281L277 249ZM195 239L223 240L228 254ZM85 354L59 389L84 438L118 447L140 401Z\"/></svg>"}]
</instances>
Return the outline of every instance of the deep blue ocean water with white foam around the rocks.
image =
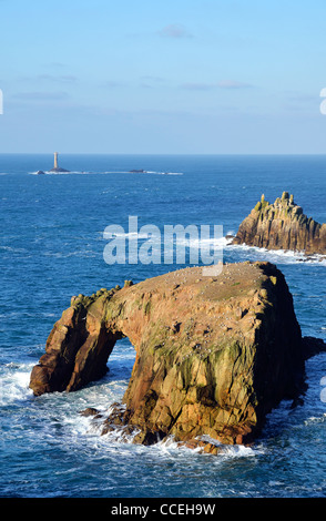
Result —
<instances>
[{"instance_id":1,"label":"deep blue ocean water with white foam around the rocks","mask_svg":"<svg viewBox=\"0 0 326 521\"><path fill-rule=\"evenodd\" d=\"M30 371L72 295L135 283L181 265L108 265L105 227L223 225L236 233L261 198L283 191L326 222L325 156L62 155L67 174L35 175L52 155L0 155L0 406L2 498L315 498L326 496L326 354L307 361L303 405L284 401L252 447L218 456L122 442L79 411L121 400L134 361L128 339L110 371L72 394L33 397ZM130 173L131 170L146 173ZM164 175L170 173L171 175ZM141 237L140 237L141 241ZM326 339L326 263L224 246L225 262L266 259L284 273L304 335Z\"/></svg>"}]
</instances>

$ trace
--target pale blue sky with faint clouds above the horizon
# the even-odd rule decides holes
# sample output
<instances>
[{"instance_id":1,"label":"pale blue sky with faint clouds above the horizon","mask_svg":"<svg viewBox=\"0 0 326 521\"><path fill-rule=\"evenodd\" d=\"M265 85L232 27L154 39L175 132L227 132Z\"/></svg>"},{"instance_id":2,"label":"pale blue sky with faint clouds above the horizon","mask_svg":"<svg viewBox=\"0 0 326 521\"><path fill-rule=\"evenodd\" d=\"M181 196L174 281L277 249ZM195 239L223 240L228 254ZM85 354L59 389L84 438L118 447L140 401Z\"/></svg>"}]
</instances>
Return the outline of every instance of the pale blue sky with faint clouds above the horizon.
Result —
<instances>
[{"instance_id":1,"label":"pale blue sky with faint clouds above the horizon","mask_svg":"<svg viewBox=\"0 0 326 521\"><path fill-rule=\"evenodd\" d=\"M0 0L0 152L325 153L325 0Z\"/></svg>"}]
</instances>

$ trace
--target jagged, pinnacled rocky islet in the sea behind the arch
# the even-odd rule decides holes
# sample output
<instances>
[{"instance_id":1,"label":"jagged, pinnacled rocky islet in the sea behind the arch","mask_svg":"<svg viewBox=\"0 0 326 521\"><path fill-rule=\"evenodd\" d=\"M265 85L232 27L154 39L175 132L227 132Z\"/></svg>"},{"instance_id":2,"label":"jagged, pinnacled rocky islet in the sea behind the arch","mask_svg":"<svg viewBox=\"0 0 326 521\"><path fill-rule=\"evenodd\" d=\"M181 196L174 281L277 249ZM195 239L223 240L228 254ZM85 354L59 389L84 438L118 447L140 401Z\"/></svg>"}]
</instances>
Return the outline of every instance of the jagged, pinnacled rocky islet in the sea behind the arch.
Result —
<instances>
[{"instance_id":1,"label":"jagged, pinnacled rocky islet in the sea behind the arch","mask_svg":"<svg viewBox=\"0 0 326 521\"><path fill-rule=\"evenodd\" d=\"M284 192L269 204L264 195L242 222L233 244L326 255L326 224L316 223Z\"/></svg>"}]
</instances>

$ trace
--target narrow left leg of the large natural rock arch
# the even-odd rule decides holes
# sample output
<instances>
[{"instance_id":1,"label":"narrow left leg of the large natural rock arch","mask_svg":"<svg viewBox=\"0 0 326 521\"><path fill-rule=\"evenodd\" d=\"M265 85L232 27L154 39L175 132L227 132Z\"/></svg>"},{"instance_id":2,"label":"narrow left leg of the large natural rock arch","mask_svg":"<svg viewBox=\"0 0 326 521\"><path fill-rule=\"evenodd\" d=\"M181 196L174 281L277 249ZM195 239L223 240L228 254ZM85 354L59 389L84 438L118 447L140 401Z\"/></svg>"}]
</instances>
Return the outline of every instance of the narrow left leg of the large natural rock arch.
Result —
<instances>
[{"instance_id":1,"label":"narrow left leg of the large natural rock arch","mask_svg":"<svg viewBox=\"0 0 326 521\"><path fill-rule=\"evenodd\" d=\"M105 325L106 305L116 290L72 297L47 340L45 354L32 370L30 387L35 396L73 391L105 375L108 358L122 336Z\"/></svg>"}]
</instances>

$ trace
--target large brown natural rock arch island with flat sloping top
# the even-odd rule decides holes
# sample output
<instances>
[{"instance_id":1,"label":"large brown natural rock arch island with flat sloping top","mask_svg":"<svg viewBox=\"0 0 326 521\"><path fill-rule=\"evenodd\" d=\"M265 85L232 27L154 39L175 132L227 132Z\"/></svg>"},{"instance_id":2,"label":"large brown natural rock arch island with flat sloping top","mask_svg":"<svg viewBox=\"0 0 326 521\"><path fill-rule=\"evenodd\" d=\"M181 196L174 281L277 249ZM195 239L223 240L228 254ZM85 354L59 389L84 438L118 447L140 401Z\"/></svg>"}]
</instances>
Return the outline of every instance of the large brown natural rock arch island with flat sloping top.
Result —
<instances>
[{"instance_id":1,"label":"large brown natural rock arch island with flat sloping top","mask_svg":"<svg viewBox=\"0 0 326 521\"><path fill-rule=\"evenodd\" d=\"M35 395L73 391L101 378L122 336L136 359L124 408L115 408L104 429L134 427L135 442L167 435L180 441L203 435L225 443L249 441L266 413L295 398L304 384L292 295L269 263L225 265L217 277L186 268L73 297L30 387Z\"/></svg>"}]
</instances>

